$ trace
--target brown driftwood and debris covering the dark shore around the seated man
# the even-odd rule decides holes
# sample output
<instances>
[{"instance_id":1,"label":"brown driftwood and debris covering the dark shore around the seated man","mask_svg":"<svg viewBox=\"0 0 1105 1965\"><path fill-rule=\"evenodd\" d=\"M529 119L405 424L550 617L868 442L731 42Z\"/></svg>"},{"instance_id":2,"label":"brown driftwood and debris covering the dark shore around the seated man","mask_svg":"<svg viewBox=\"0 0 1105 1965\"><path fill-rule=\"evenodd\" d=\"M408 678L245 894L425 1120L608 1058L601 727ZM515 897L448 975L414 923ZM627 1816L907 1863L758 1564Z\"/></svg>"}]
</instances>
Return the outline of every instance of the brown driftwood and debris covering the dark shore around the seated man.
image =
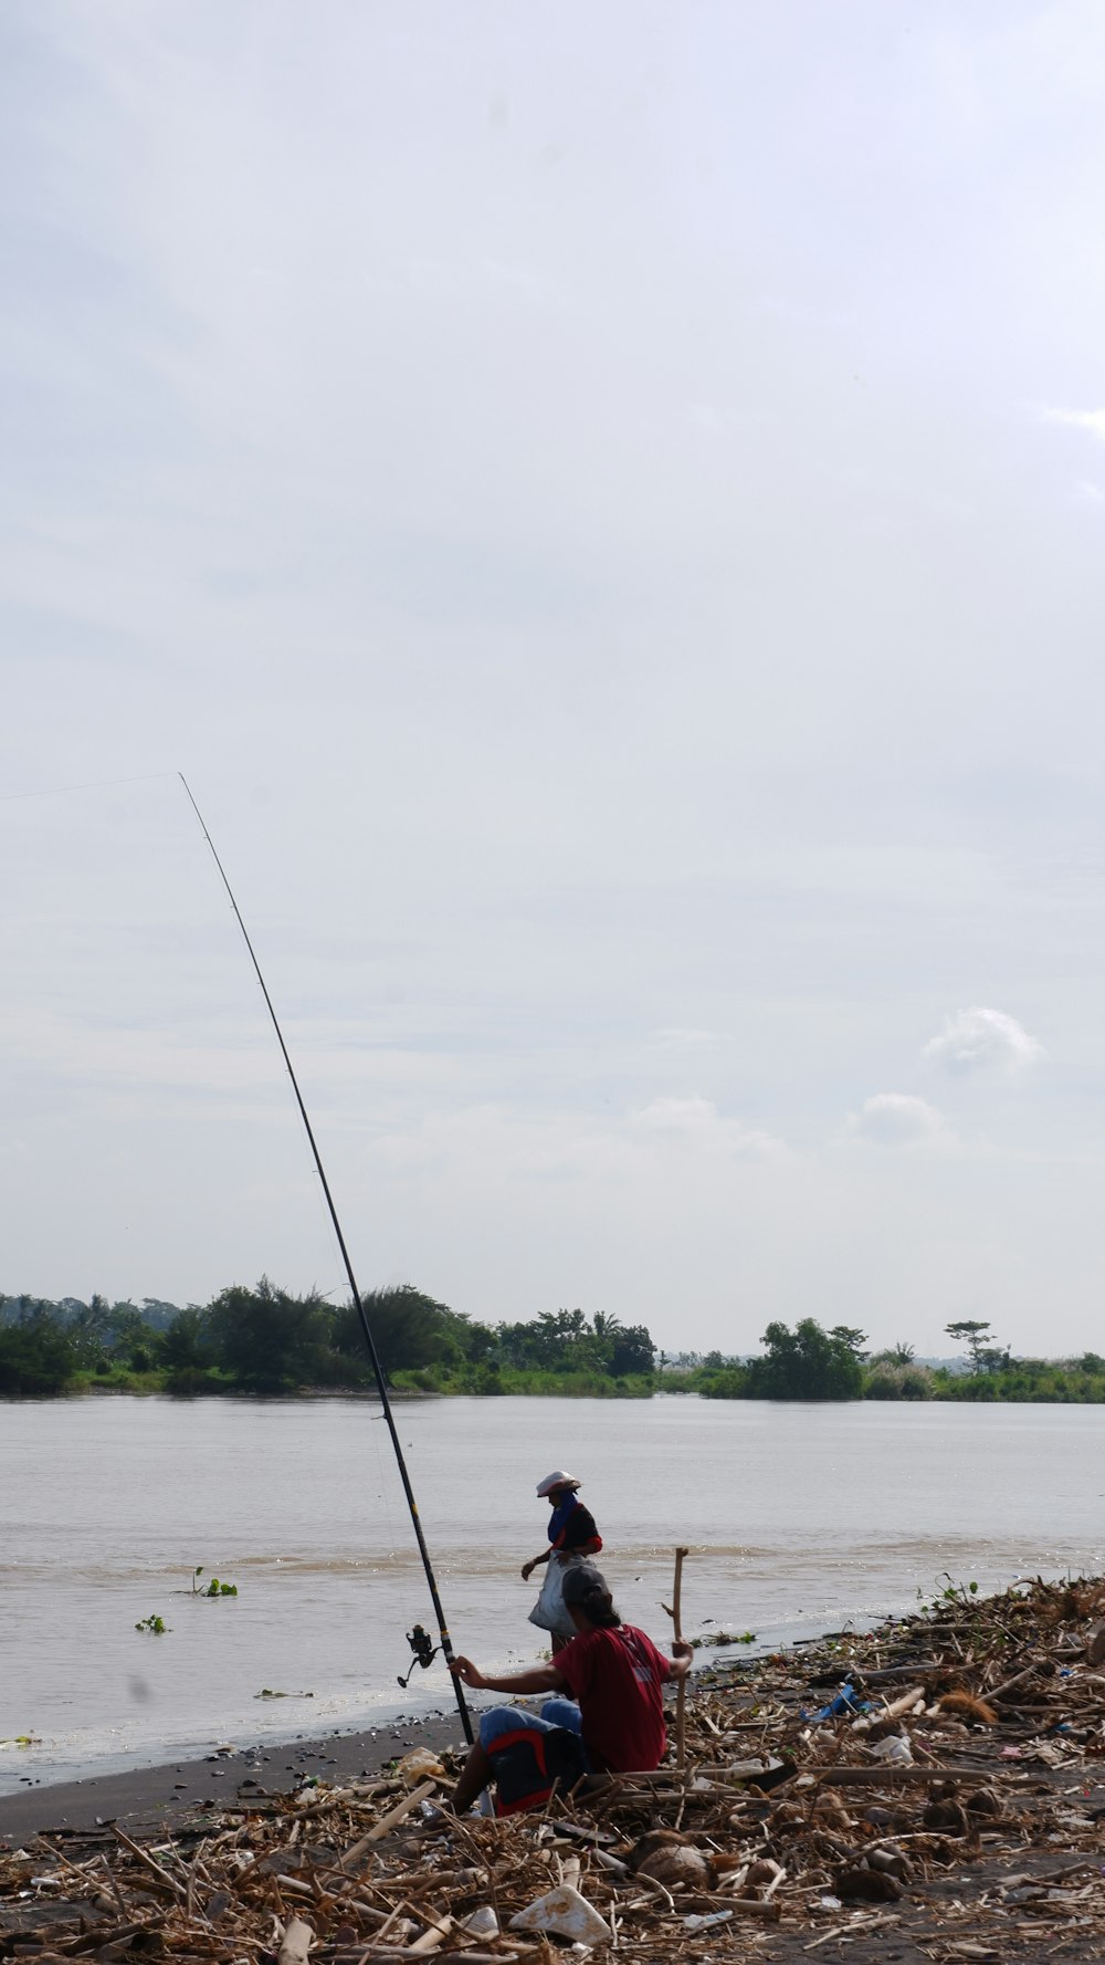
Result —
<instances>
[{"instance_id":1,"label":"brown driftwood and debris covering the dark shore around the seated man","mask_svg":"<svg viewBox=\"0 0 1105 1965\"><path fill-rule=\"evenodd\" d=\"M457 1820L459 1763L420 1749L151 1839L39 1835L0 1855L0 1957L1095 1959L1103 1757L1105 1580L956 1592L699 1672L683 1768L542 1816Z\"/></svg>"}]
</instances>

